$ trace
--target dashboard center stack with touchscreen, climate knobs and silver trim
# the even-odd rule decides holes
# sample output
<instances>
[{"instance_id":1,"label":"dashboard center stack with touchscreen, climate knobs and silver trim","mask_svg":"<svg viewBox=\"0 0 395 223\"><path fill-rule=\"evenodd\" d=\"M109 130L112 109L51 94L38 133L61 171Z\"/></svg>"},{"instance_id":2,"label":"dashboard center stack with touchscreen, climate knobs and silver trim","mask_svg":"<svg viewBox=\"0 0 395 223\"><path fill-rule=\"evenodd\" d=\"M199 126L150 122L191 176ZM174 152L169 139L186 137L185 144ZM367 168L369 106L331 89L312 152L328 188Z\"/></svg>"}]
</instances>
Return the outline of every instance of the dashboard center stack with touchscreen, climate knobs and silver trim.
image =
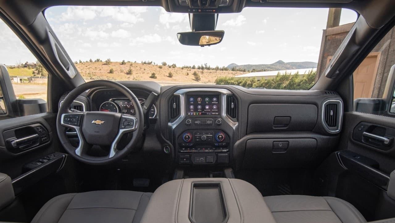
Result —
<instances>
[{"instance_id":1,"label":"dashboard center stack with touchscreen, climate knobs and silver trim","mask_svg":"<svg viewBox=\"0 0 395 223\"><path fill-rule=\"evenodd\" d=\"M229 90L222 88L187 88L174 93L170 107L180 115L169 122L176 163L179 165L229 165L235 129L238 123L229 118L226 108Z\"/></svg>"}]
</instances>

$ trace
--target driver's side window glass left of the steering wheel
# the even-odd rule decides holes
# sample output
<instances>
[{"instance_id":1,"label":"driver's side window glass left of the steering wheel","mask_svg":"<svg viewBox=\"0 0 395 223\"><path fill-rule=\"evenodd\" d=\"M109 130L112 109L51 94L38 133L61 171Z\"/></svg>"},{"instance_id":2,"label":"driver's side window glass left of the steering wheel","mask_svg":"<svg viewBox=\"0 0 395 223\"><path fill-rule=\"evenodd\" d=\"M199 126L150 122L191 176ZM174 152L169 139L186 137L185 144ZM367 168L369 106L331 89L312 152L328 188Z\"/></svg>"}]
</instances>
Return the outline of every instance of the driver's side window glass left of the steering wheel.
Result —
<instances>
[{"instance_id":1,"label":"driver's side window glass left of the steering wheel","mask_svg":"<svg viewBox=\"0 0 395 223\"><path fill-rule=\"evenodd\" d=\"M48 72L2 20L0 30L0 63L7 67L15 96L47 101Z\"/></svg>"}]
</instances>

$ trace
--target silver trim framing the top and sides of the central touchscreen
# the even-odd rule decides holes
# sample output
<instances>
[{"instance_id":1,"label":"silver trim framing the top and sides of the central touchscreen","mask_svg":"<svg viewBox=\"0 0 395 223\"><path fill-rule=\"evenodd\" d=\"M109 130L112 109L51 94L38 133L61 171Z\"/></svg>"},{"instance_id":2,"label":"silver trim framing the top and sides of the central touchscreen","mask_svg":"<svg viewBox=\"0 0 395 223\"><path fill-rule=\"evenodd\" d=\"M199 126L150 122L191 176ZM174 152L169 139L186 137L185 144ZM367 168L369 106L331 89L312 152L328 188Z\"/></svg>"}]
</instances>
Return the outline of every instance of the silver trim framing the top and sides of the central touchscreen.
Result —
<instances>
[{"instance_id":1,"label":"silver trim framing the top and sides of the central touchscreen","mask_svg":"<svg viewBox=\"0 0 395 223\"><path fill-rule=\"evenodd\" d=\"M181 112L180 116L174 120L173 122L167 122L167 126L171 128L171 131L175 129L176 126L178 126L182 120L186 117L186 94L191 93L191 92L218 92L221 95L221 118L225 120L235 131L239 122L233 122L227 115L226 115L226 96L229 94L232 94L231 91L228 89L223 89L223 88L181 88L174 92L174 95L177 95L181 98L180 100L180 106L181 106Z\"/></svg>"}]
</instances>

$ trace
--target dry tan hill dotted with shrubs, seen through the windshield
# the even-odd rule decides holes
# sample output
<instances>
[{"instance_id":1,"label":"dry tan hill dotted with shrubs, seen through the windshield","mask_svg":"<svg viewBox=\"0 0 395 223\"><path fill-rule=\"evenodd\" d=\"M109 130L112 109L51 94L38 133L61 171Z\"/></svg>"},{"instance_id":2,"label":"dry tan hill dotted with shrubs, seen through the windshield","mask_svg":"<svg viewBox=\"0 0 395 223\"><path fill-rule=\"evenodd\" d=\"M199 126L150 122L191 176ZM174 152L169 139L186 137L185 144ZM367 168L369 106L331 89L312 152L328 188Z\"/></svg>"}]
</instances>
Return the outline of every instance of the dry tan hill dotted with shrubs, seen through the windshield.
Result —
<instances>
[{"instance_id":1,"label":"dry tan hill dotted with shrubs, seen through the windshield","mask_svg":"<svg viewBox=\"0 0 395 223\"><path fill-rule=\"evenodd\" d=\"M121 64L121 62L111 62L111 64L106 64L105 62L82 62L75 64L75 66L86 81L107 79L113 81L157 81L161 82L162 84L166 84L167 82L173 84L214 84L217 77L233 77L235 75L246 73L241 71L201 70L182 67L173 68L162 65L141 64L133 62L126 62L126 64ZM132 69L131 75L127 74L129 67ZM113 69L114 73L109 73L110 69ZM201 81L198 82L194 80L194 71L199 73ZM169 77L169 72L171 72L173 77ZM150 78L152 73L156 74L156 79Z\"/></svg>"}]
</instances>

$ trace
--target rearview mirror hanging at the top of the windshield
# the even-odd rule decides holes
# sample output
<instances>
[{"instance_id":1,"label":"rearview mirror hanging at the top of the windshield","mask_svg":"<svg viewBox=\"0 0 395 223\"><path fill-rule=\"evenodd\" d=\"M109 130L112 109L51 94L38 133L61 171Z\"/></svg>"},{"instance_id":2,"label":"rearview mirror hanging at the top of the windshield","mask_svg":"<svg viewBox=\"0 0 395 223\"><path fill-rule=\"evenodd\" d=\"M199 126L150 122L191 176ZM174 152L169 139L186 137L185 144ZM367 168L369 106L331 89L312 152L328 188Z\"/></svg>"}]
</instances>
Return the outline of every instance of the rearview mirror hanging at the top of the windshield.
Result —
<instances>
[{"instance_id":1,"label":"rearview mirror hanging at the top of the windshield","mask_svg":"<svg viewBox=\"0 0 395 223\"><path fill-rule=\"evenodd\" d=\"M188 46L210 46L222 41L225 32L218 31L198 31L198 32L179 32L177 33L178 41L182 45Z\"/></svg>"}]
</instances>

